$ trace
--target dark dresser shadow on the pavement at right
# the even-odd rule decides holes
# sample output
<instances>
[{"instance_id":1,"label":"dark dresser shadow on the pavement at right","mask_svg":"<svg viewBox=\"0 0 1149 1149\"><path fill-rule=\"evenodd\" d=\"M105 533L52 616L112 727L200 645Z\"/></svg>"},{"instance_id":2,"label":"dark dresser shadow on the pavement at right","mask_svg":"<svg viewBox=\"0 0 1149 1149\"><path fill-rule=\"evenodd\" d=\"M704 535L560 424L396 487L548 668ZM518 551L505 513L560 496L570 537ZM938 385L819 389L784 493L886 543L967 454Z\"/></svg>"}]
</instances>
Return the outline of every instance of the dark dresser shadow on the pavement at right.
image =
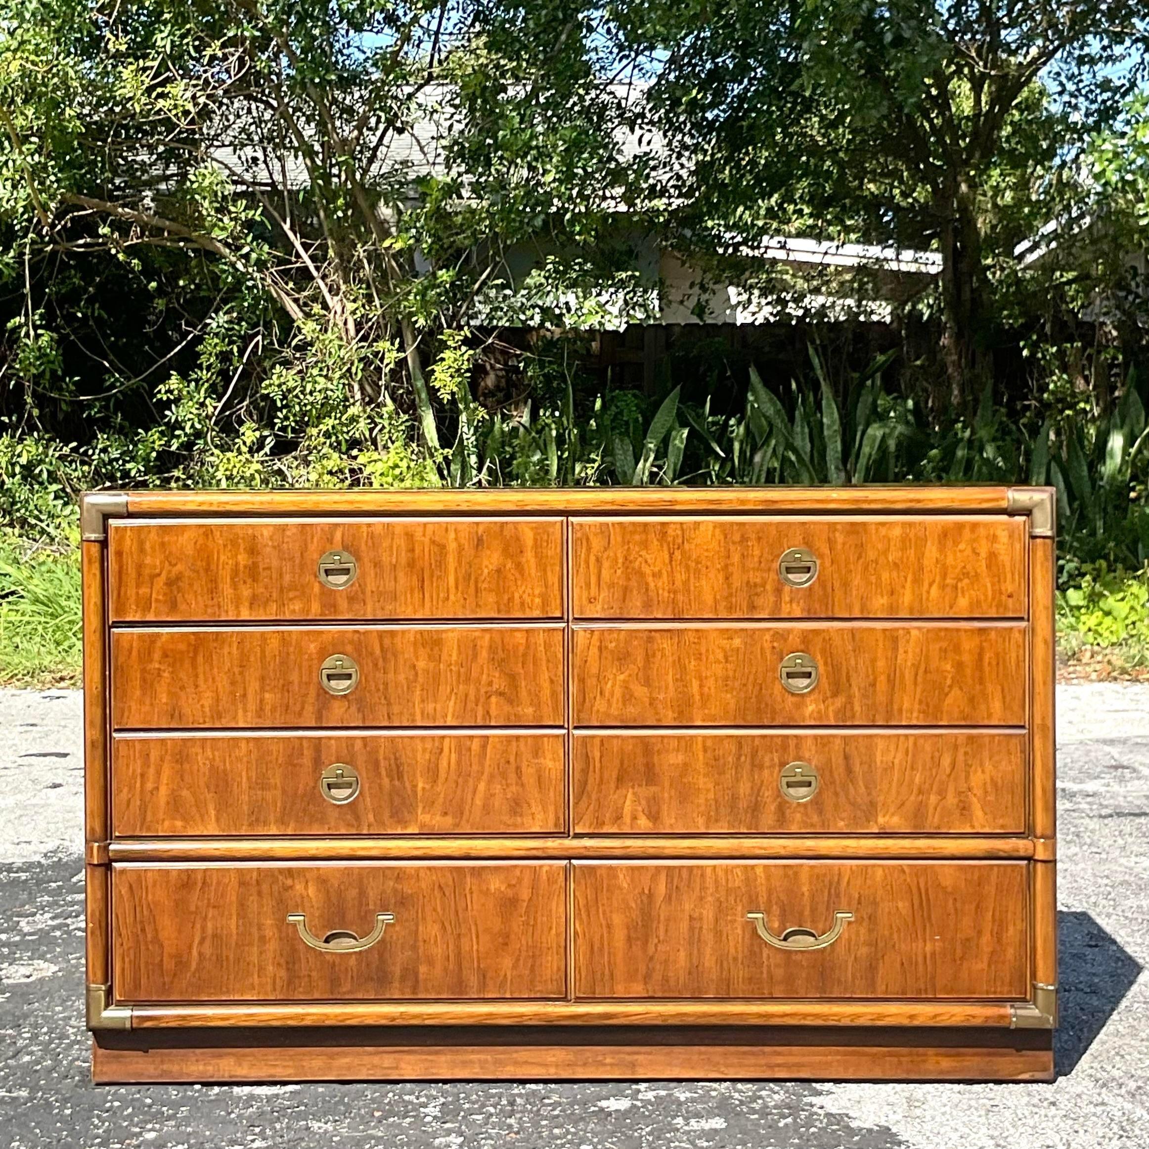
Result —
<instances>
[{"instance_id":1,"label":"dark dresser shadow on the pavement at right","mask_svg":"<svg viewBox=\"0 0 1149 1149\"><path fill-rule=\"evenodd\" d=\"M1113 1016L1141 964L1085 910L1057 915L1058 1007L1054 1063L1066 1077Z\"/></svg>"}]
</instances>

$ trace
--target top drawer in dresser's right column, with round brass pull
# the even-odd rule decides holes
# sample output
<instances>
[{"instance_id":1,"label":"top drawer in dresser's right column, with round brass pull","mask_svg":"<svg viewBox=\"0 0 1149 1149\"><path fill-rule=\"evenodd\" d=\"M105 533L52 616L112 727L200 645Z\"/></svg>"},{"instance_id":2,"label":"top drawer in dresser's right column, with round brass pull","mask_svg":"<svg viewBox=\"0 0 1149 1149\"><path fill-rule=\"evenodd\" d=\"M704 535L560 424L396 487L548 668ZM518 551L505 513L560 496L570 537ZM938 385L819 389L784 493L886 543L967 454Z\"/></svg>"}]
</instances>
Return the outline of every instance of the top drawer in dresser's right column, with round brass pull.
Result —
<instances>
[{"instance_id":1,"label":"top drawer in dresser's right column, with round brass pull","mask_svg":"<svg viewBox=\"0 0 1149 1149\"><path fill-rule=\"evenodd\" d=\"M1023 618L1021 516L578 518L577 618Z\"/></svg>"}]
</instances>

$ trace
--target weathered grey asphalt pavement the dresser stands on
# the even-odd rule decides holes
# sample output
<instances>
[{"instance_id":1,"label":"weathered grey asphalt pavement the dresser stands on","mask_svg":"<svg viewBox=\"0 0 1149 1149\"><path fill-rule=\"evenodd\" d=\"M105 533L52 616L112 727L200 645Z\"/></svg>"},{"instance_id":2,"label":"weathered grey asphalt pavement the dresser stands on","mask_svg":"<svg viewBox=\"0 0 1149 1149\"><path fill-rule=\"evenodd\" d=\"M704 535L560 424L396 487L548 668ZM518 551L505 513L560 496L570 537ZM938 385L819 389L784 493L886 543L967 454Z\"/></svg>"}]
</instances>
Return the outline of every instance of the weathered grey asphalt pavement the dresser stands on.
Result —
<instances>
[{"instance_id":1,"label":"weathered grey asphalt pavement the dresser stands on","mask_svg":"<svg viewBox=\"0 0 1149 1149\"><path fill-rule=\"evenodd\" d=\"M1149 686L1058 689L1052 1085L95 1088L74 692L0 691L0 1146L1149 1149Z\"/></svg>"}]
</instances>

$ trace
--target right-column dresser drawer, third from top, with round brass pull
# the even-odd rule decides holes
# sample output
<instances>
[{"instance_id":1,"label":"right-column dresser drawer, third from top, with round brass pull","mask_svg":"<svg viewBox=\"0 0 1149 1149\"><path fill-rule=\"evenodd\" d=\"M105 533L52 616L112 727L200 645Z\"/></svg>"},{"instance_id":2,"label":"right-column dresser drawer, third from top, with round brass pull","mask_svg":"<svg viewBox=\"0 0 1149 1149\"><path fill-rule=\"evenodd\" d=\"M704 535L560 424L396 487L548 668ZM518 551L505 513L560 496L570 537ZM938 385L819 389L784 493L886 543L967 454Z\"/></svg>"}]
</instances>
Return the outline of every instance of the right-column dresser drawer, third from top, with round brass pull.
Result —
<instances>
[{"instance_id":1,"label":"right-column dresser drawer, third from top, with round brass pull","mask_svg":"<svg viewBox=\"0 0 1149 1149\"><path fill-rule=\"evenodd\" d=\"M580 834L1024 834L1026 737L583 732L572 791Z\"/></svg>"}]
</instances>

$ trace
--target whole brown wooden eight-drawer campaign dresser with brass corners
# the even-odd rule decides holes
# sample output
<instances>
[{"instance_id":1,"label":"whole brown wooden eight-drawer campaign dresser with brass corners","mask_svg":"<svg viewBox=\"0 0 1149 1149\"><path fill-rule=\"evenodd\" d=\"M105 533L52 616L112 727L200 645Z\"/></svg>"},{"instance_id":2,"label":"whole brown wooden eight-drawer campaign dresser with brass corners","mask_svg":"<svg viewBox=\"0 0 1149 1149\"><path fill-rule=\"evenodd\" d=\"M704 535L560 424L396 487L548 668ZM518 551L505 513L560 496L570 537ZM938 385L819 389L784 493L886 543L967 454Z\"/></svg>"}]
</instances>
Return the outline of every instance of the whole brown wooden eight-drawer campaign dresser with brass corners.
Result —
<instances>
[{"instance_id":1,"label":"whole brown wooden eight-drawer campaign dresser with brass corners","mask_svg":"<svg viewBox=\"0 0 1149 1149\"><path fill-rule=\"evenodd\" d=\"M85 496L95 1079L1051 1078L1054 508Z\"/></svg>"}]
</instances>

